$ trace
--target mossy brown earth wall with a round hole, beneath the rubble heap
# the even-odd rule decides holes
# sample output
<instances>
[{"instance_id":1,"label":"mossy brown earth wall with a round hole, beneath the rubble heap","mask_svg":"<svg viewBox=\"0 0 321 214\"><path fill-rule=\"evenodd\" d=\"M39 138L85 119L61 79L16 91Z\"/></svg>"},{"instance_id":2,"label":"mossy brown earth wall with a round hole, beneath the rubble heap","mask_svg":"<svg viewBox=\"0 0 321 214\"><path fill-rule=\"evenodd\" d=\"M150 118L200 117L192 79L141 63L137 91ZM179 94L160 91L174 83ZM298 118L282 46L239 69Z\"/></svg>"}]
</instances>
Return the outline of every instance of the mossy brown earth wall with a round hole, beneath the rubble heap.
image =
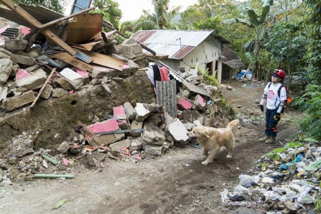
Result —
<instances>
[{"instance_id":1,"label":"mossy brown earth wall with a round hole, beneath the rubble heap","mask_svg":"<svg viewBox=\"0 0 321 214\"><path fill-rule=\"evenodd\" d=\"M136 72L122 82L108 83L112 94L108 94L100 85L82 89L61 98L39 99L35 107L21 107L12 113L0 117L0 149L12 142L12 137L22 131L41 129L38 143L40 147L64 141L79 119L91 124L93 116L100 119L105 113L111 114L113 107L130 102L156 103L151 83L145 72Z\"/></svg>"}]
</instances>

